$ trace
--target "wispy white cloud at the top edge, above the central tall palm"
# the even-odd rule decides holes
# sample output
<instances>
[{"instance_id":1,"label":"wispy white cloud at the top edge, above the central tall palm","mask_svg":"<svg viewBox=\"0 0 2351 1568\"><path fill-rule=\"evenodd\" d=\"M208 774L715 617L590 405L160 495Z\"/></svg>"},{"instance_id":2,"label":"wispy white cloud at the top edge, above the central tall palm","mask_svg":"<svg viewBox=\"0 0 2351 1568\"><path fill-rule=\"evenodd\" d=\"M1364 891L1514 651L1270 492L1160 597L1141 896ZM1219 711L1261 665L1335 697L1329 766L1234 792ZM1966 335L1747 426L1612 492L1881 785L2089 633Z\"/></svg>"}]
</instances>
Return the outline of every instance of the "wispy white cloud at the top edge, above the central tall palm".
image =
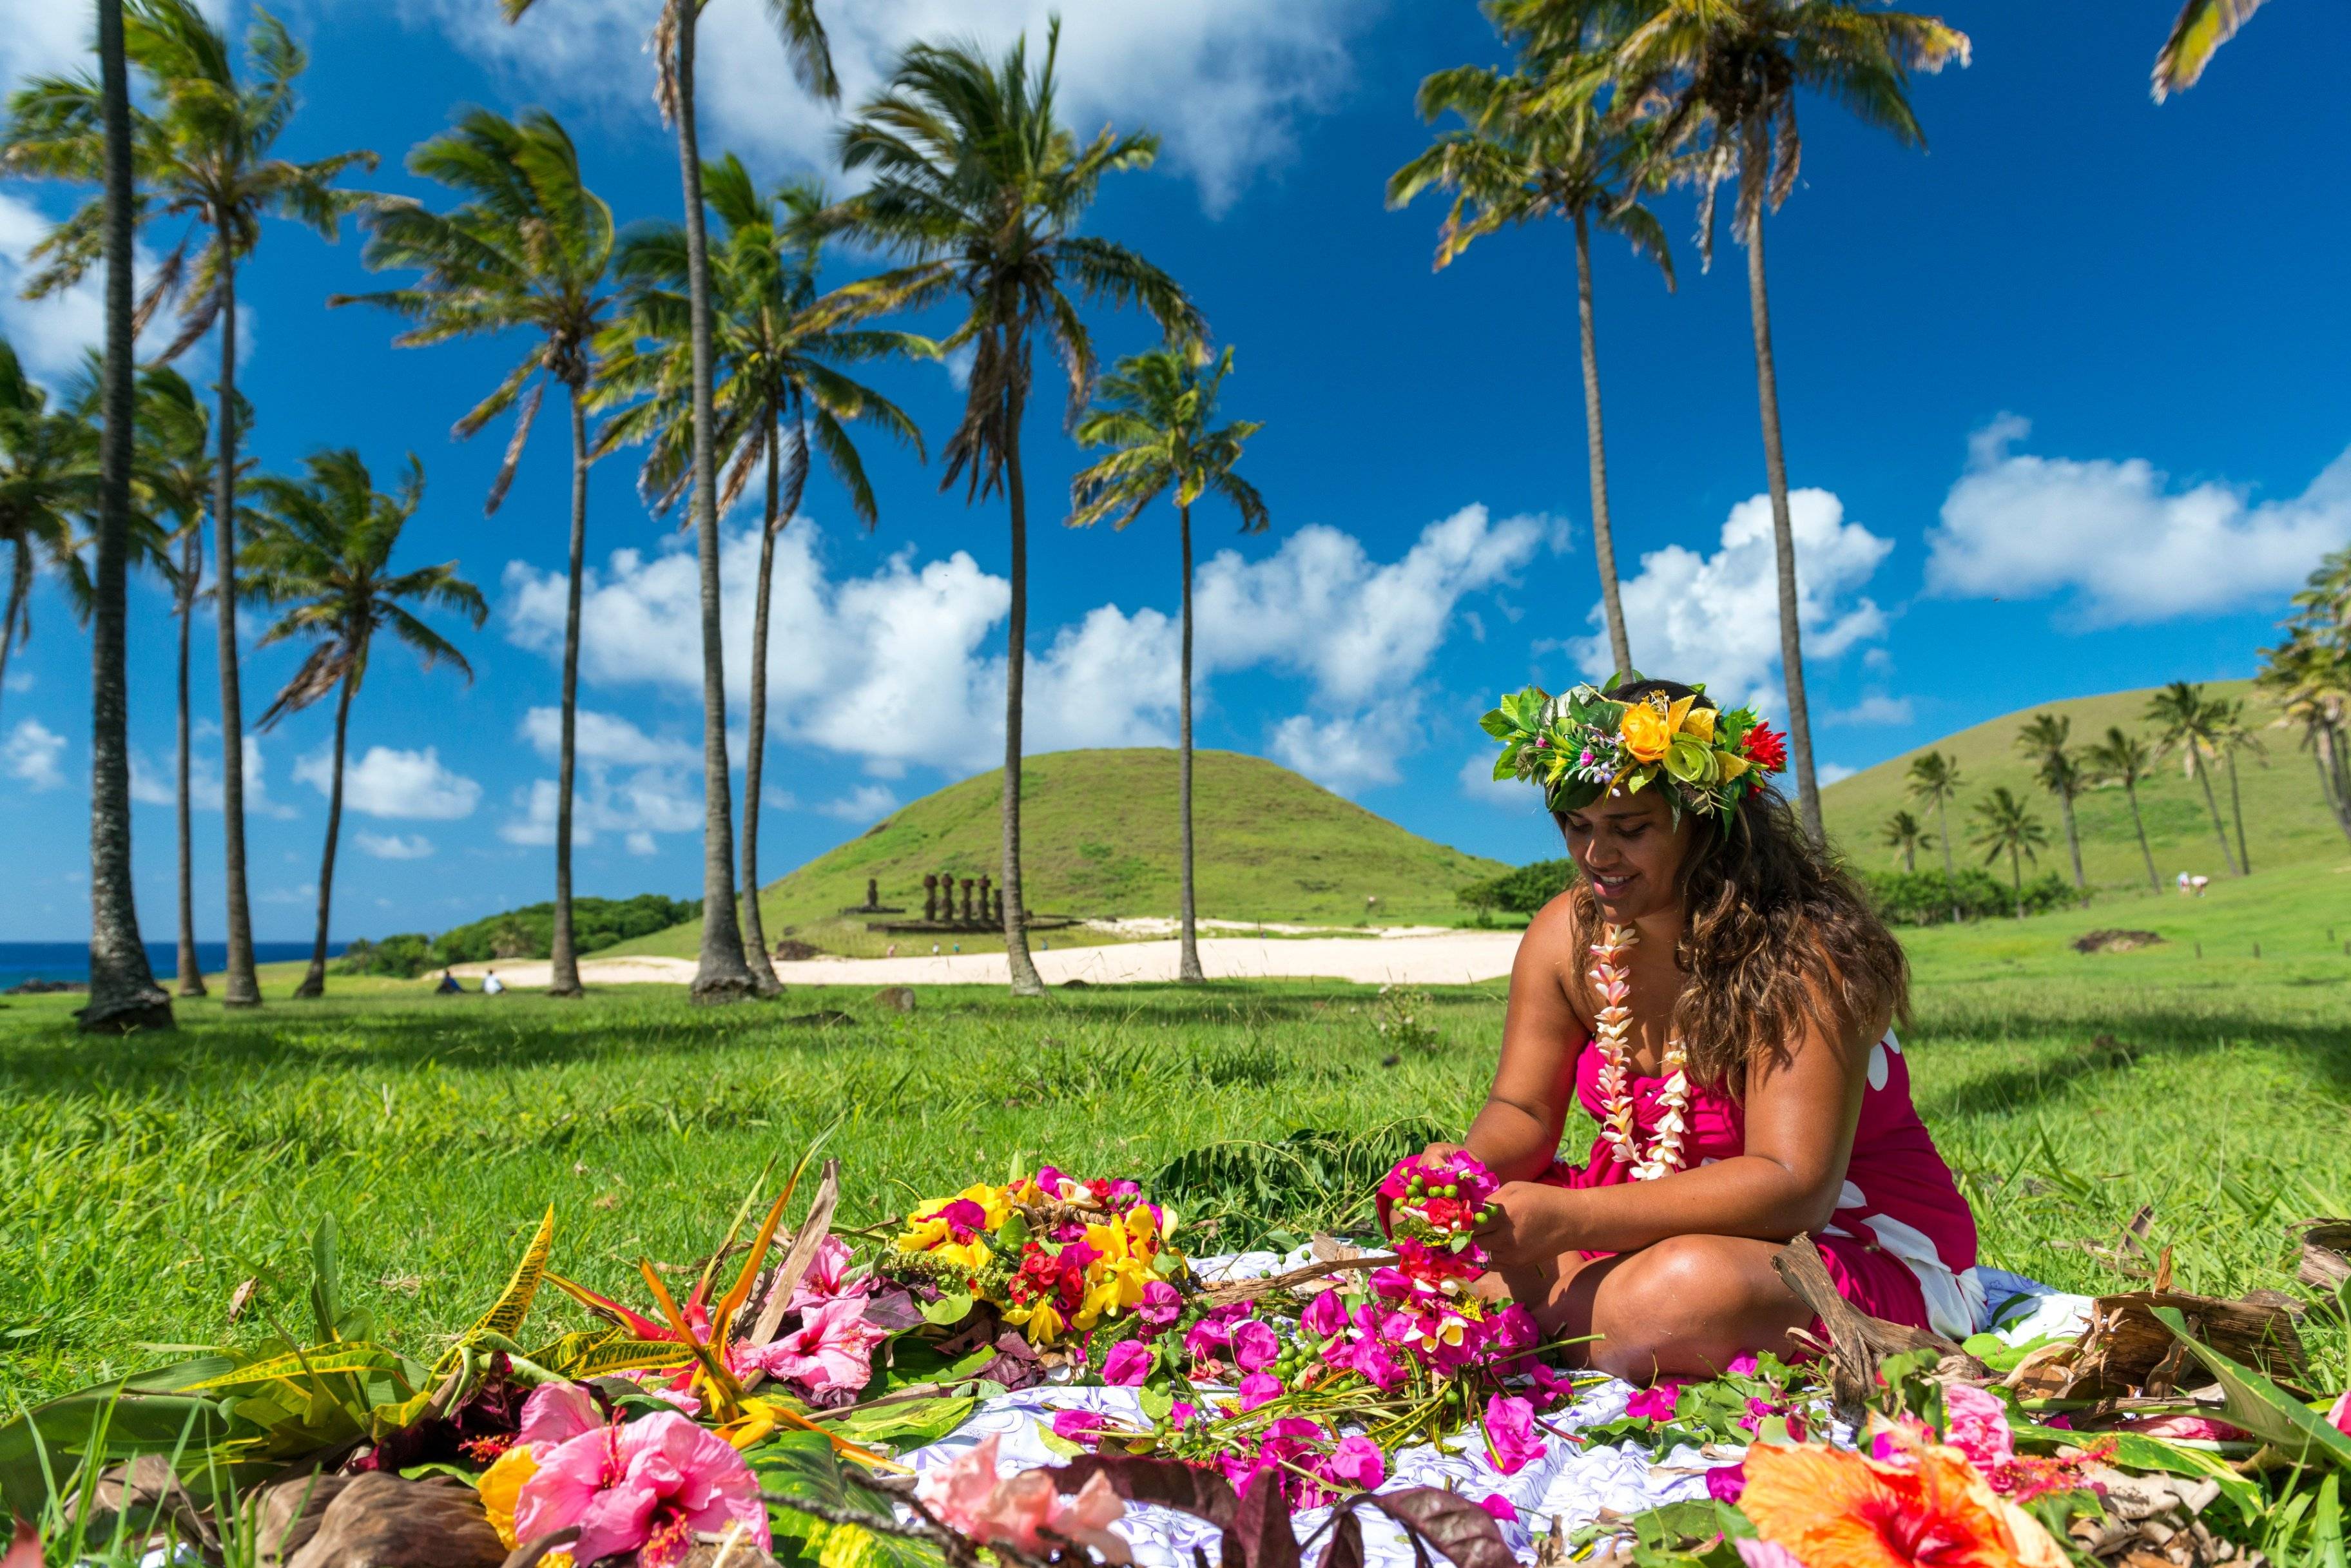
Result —
<instances>
[{"instance_id":1,"label":"wispy white cloud at the top edge, above the central tall palm","mask_svg":"<svg viewBox=\"0 0 2351 1568\"><path fill-rule=\"evenodd\" d=\"M654 122L644 40L654 0L569 0L520 26L477 0L397 0L397 14L501 66L557 108L595 106ZM973 38L994 56L1023 28L1044 54L1060 12L1060 113L1079 136L1103 122L1159 132L1171 167L1223 209L1295 148L1302 115L1347 85L1347 42L1378 16L1371 0L858 0L823 7L842 103L853 108L917 40ZM701 21L696 96L710 146L825 167L837 110L804 94L757 5L717 5ZM630 127L635 129L635 127Z\"/></svg>"}]
</instances>

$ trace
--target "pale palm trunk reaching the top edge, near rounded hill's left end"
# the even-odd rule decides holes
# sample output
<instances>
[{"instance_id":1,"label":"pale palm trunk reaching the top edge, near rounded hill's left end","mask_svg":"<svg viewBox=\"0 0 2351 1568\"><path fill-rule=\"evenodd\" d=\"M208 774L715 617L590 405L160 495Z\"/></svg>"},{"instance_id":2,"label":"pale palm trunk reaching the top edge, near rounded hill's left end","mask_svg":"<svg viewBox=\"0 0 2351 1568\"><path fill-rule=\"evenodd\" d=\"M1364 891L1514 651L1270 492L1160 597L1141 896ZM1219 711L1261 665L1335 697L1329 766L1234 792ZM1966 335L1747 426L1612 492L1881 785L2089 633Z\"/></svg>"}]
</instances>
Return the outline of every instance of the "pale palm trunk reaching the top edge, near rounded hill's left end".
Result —
<instances>
[{"instance_id":1,"label":"pale palm trunk reaching the top edge, near rounded hill's left end","mask_svg":"<svg viewBox=\"0 0 2351 1568\"><path fill-rule=\"evenodd\" d=\"M734 799L726 776L726 646L719 625L719 484L710 393L710 226L703 214L703 153L694 129L694 21L698 0L677 5L677 165L686 188L686 294L694 334L694 559L703 590L703 945L696 1001L752 994L734 905Z\"/></svg>"}]
</instances>

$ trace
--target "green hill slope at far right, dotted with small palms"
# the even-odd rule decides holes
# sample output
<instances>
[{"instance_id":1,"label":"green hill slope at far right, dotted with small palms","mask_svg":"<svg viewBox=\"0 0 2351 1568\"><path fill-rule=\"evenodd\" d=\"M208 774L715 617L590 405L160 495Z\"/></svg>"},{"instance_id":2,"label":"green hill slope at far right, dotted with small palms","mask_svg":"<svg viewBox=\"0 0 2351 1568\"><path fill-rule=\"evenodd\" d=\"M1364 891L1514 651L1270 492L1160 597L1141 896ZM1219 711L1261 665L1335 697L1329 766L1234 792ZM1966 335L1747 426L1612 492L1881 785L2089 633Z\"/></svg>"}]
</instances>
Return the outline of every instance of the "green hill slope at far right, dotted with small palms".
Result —
<instances>
[{"instance_id":1,"label":"green hill slope at far right, dotted with small palms","mask_svg":"<svg viewBox=\"0 0 2351 1568\"><path fill-rule=\"evenodd\" d=\"M2062 703L2036 703L2005 717L1944 736L1933 745L1902 752L1874 769L1843 778L1822 790L1822 811L1829 837L1862 867L1897 867L1900 858L1878 842L1878 827L1895 811L1909 809L1921 816L1928 832L1937 825L1930 813L1909 799L1904 771L1911 757L1942 750L1958 759L1961 790L1951 802L1951 856L1963 865L1980 865L1982 851L1968 844L1970 811L1996 785L2008 785L2029 799L2050 832L2050 849L2041 853L2038 870L2071 875L2064 851L2064 825L2057 799L2034 783L2031 764L2017 755L2015 736L2036 712L2055 712L2074 719L2074 743L2099 738L2109 724L2121 724L2132 733L2151 733L2144 722L2146 698L2154 691L2114 691L2106 696L2083 696ZM2252 691L2252 682L2210 682L2205 696L2248 698L2248 722L2266 726L2276 719L2276 708ZM2245 804L2245 839L2252 853L2252 870L2278 870L2288 863L2337 865L2351 858L2342 830L2327 816L2318 795L2318 776L2309 752L2299 745L2299 733L2290 729L2259 729L2266 759L2238 757L2238 790ZM2222 820L2229 820L2229 780L2215 776L2215 797ZM2092 886L2125 889L2146 886L2146 870L2139 860L2139 844L2130 830L2130 806L2121 785L2097 788L2074 802L2081 823L2081 858ZM2146 842L2156 853L2156 875L2170 879L2201 872L2222 882L2229 872L2212 839L2212 818L2205 813L2203 790L2182 773L2177 757L2163 762L2156 776L2139 785L2139 813L2146 820ZM2231 825L2233 842L2233 825ZM1942 865L1942 851L1921 851L1918 865ZM1998 867L1996 867L1998 870ZM2005 872L2003 872L2005 875Z\"/></svg>"}]
</instances>

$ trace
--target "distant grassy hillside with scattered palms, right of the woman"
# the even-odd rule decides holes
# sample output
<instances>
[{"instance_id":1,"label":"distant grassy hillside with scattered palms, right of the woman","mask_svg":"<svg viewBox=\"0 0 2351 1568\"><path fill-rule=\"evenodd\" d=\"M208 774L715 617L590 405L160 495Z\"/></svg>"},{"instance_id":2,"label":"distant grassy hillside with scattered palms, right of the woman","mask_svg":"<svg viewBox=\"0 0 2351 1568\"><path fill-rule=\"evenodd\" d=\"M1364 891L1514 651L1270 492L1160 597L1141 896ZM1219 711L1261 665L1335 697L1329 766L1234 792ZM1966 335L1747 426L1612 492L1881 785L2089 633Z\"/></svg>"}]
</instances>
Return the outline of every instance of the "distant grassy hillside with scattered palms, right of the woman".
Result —
<instances>
[{"instance_id":1,"label":"distant grassy hillside with scattered palms, right of the woman","mask_svg":"<svg viewBox=\"0 0 2351 1568\"><path fill-rule=\"evenodd\" d=\"M2327 811L2318 790L2311 752L2302 748L2302 729L2276 724L2280 710L2276 698L2257 691L2252 682L2205 682L2201 696L2212 703L2243 703L2241 733L2250 743L2236 748L2238 795L2245 818L2245 849L2252 872L2285 863L2351 863L2351 844ZM2067 698L2059 703L2036 703L2003 715L1987 724L1944 736L1930 745L1888 757L1874 769L1843 778L1822 790L1822 809L1829 823L1829 839L1860 867L1902 870L1904 849L1900 835L1888 832L1897 813L1909 813L1928 835L1916 846L1918 870L1942 867L1942 830L1935 820L1933 802L1916 792L1916 764L1942 757L1956 771L1956 788L1944 806L1951 832L1951 858L1958 867L1984 865L2003 884L2010 879L2005 839L1996 851L1977 844L1982 823L1977 806L1996 799L1998 790L2027 811L2038 816L2045 844L2038 858L2024 860L2024 879L2057 872L2071 879L2067 858L2064 813L2059 797L2043 780L2043 759L2036 750L2020 745L2036 717L2048 715L2067 722L2069 748L2078 757L2083 773L2074 797L2074 816L2081 835L2083 875L2092 889L2128 891L2146 889L2146 863L2132 830L2130 799L2123 785L2109 778L2111 769L2083 757L2097 748L2106 731L2121 729L2125 738L2137 738L2146 755L2146 776L2135 783L2139 816L2146 825L2146 849L2154 858L2156 877L2165 891L2184 870L2222 882L2231 875L2236 856L2236 823L2229 809L2226 762L2212 766L2212 802L2205 802L2203 764L2189 771L2189 752L2158 745L2163 724L2149 717L2149 708L2165 698L2165 689L2111 691L2106 696ZM2255 750L2255 743L2259 750ZM2229 860L2215 837L2215 809L2229 832ZM1888 842L1895 839L1895 842ZM2351 898L2351 886L2346 886Z\"/></svg>"}]
</instances>

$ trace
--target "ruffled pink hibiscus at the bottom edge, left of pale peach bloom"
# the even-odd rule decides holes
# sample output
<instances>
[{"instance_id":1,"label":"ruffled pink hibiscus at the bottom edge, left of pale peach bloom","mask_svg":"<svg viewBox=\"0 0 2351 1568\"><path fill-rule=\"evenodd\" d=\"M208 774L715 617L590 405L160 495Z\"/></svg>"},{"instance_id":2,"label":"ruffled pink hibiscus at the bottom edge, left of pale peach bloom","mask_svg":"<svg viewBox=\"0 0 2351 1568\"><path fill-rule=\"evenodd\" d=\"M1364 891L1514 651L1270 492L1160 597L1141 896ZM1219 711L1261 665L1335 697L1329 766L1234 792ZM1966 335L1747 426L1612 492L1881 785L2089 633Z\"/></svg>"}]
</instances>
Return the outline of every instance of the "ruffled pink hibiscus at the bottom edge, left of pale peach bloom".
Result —
<instances>
[{"instance_id":1,"label":"ruffled pink hibiscus at the bottom edge, left of pale peach bloom","mask_svg":"<svg viewBox=\"0 0 2351 1568\"><path fill-rule=\"evenodd\" d=\"M715 1432L663 1410L625 1427L597 1427L552 1448L515 1495L515 1535L531 1540L578 1526L574 1561L637 1552L668 1568L698 1530L743 1535L769 1549L759 1479Z\"/></svg>"}]
</instances>

